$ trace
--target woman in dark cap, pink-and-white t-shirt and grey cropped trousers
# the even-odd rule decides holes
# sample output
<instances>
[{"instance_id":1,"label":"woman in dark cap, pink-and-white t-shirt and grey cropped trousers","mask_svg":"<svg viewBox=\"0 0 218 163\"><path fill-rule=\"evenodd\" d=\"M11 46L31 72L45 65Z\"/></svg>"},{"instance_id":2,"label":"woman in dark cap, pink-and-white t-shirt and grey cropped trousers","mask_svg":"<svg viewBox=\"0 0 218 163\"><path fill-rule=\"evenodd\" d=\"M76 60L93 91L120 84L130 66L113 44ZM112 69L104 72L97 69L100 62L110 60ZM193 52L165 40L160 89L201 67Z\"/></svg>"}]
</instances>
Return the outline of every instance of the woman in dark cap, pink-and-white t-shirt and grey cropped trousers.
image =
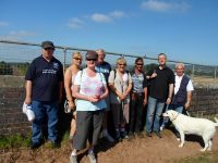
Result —
<instances>
[{"instance_id":1,"label":"woman in dark cap, pink-and-white t-shirt and grey cropped trousers","mask_svg":"<svg viewBox=\"0 0 218 163\"><path fill-rule=\"evenodd\" d=\"M108 96L107 83L101 73L95 70L97 53L87 51L87 67L75 76L73 96L76 101L76 134L70 162L77 162L77 151L86 148L89 141L88 158L96 162L94 147L97 145L106 109L105 98Z\"/></svg>"}]
</instances>

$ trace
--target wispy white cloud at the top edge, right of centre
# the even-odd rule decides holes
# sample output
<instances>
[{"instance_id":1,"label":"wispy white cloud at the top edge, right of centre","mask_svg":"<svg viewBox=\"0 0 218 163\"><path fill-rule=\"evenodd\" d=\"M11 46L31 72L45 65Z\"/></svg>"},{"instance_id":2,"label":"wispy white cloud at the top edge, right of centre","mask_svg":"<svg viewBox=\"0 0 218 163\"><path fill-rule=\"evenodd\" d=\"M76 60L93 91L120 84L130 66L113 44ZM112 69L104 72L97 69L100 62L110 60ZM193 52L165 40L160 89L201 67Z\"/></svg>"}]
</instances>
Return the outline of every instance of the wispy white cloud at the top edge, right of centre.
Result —
<instances>
[{"instance_id":1,"label":"wispy white cloud at the top edge, right of centre","mask_svg":"<svg viewBox=\"0 0 218 163\"><path fill-rule=\"evenodd\" d=\"M150 10L150 11L157 11L157 12L166 12L166 11L186 11L190 5L185 2L181 3L172 3L172 2L166 2L160 0L148 0L144 1L141 4L141 8L143 10Z\"/></svg>"}]
</instances>

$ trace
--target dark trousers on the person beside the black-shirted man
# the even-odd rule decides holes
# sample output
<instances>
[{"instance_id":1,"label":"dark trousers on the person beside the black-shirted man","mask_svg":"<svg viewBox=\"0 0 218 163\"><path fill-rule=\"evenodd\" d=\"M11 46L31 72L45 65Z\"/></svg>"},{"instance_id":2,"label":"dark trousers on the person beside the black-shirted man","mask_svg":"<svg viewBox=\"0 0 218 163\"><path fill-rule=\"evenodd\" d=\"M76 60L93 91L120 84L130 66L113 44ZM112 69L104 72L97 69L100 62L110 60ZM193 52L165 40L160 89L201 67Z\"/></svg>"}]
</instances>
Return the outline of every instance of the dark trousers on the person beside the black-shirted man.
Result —
<instances>
[{"instance_id":1,"label":"dark trousers on the person beside the black-shirted man","mask_svg":"<svg viewBox=\"0 0 218 163\"><path fill-rule=\"evenodd\" d=\"M144 96L143 93L133 93L131 97L130 133L133 134L134 131L140 133L142 128Z\"/></svg>"}]
</instances>

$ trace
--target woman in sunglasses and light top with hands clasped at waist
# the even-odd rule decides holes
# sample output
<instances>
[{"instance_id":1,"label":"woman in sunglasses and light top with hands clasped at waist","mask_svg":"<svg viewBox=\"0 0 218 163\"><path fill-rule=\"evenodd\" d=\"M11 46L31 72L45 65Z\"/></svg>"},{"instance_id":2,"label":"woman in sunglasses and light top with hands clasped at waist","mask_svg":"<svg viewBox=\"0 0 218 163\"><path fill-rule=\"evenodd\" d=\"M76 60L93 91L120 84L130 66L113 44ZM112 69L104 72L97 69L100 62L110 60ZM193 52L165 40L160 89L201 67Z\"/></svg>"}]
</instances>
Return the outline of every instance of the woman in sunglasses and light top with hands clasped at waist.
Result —
<instances>
[{"instance_id":1,"label":"woman in sunglasses and light top with hands clasped at waist","mask_svg":"<svg viewBox=\"0 0 218 163\"><path fill-rule=\"evenodd\" d=\"M125 70L126 61L124 58L117 60L117 68L110 72L110 103L116 127L116 138L121 140L128 138L125 124L129 123L130 113L130 91L132 89L132 77Z\"/></svg>"}]
</instances>

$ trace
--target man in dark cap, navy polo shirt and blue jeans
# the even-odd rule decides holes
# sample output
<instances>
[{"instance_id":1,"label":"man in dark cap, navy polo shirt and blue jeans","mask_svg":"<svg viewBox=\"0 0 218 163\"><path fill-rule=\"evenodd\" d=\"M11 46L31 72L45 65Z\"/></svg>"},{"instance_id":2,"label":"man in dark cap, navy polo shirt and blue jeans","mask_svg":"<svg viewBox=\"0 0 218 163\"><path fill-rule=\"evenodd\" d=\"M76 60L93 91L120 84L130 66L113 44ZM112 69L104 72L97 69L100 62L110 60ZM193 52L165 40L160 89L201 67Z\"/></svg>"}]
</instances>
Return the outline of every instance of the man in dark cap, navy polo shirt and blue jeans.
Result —
<instances>
[{"instance_id":1,"label":"man in dark cap, navy polo shirt and blue jeans","mask_svg":"<svg viewBox=\"0 0 218 163\"><path fill-rule=\"evenodd\" d=\"M26 73L26 98L35 114L33 121L32 149L41 145L44 120L48 120L48 140L53 148L58 147L58 105L63 87L63 66L53 57L52 41L41 42L41 55L34 59Z\"/></svg>"}]
</instances>

